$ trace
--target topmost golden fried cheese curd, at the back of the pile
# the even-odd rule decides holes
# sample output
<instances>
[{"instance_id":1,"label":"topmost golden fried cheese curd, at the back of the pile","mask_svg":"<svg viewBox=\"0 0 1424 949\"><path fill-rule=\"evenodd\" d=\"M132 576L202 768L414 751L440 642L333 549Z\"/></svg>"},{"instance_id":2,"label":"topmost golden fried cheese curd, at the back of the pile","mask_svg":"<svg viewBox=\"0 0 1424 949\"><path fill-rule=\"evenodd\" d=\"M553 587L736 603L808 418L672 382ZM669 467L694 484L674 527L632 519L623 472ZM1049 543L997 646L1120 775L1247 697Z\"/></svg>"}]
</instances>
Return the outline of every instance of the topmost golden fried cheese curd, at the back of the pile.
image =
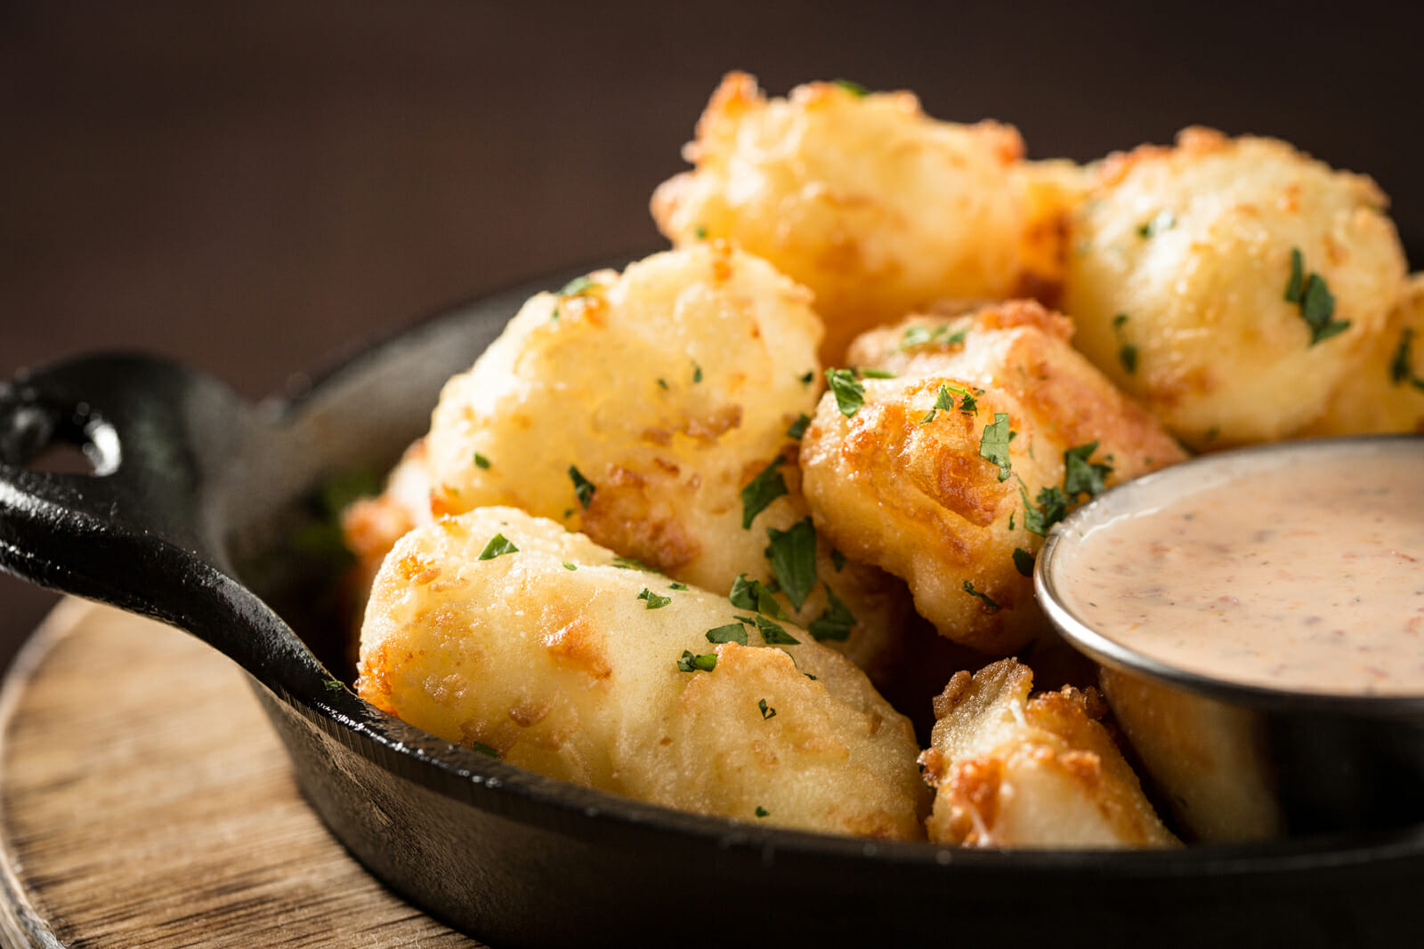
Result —
<instances>
[{"instance_id":1,"label":"topmost golden fried cheese curd, at the back of the pile","mask_svg":"<svg viewBox=\"0 0 1424 949\"><path fill-rule=\"evenodd\" d=\"M822 354L937 297L1004 297L1052 260L1015 179L1024 144L998 122L928 118L911 92L810 83L768 100L731 73L684 149L695 165L652 198L676 246L726 238L816 293Z\"/></svg>"}]
</instances>

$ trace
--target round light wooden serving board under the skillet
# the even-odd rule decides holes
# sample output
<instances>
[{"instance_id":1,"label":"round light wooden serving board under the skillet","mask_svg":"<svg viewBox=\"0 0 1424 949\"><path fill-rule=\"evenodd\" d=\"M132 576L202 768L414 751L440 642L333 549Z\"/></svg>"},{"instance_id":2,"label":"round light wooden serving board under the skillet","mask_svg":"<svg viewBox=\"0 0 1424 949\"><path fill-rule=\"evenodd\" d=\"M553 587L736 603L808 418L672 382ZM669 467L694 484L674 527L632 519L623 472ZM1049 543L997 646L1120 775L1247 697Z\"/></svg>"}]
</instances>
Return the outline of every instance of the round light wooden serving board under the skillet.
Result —
<instances>
[{"instance_id":1,"label":"round light wooden serving board under the skillet","mask_svg":"<svg viewBox=\"0 0 1424 949\"><path fill-rule=\"evenodd\" d=\"M0 691L0 943L480 945L326 832L232 662L80 600Z\"/></svg>"}]
</instances>

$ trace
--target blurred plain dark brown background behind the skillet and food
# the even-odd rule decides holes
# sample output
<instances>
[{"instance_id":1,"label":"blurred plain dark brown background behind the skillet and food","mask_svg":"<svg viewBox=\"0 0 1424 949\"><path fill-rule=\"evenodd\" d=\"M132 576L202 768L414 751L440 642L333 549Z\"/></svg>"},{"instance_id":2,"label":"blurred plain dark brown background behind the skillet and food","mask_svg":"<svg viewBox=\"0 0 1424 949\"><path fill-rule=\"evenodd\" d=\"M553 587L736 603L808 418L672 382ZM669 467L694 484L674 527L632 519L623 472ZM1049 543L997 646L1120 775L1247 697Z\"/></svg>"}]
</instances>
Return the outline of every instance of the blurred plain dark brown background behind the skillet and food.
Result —
<instances>
[{"instance_id":1,"label":"blurred plain dark brown background behind the skillet and food","mask_svg":"<svg viewBox=\"0 0 1424 949\"><path fill-rule=\"evenodd\" d=\"M147 349L258 397L655 246L648 195L733 67L913 88L1040 158L1279 135L1371 172L1420 266L1414 4L1162 6L0 3L0 377ZM48 602L0 578L0 664Z\"/></svg>"}]
</instances>

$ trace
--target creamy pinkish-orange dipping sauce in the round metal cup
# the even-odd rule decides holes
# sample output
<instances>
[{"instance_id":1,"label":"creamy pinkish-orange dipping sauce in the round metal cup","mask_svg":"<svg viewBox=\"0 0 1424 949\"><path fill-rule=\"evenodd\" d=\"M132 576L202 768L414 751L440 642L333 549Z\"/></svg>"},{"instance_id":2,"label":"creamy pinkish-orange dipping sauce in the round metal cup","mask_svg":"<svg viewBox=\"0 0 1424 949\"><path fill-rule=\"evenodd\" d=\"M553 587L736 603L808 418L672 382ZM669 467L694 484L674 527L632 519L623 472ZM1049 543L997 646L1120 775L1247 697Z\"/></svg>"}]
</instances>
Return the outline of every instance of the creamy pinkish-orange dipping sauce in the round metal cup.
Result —
<instances>
[{"instance_id":1,"label":"creamy pinkish-orange dipping sauce in the round metal cup","mask_svg":"<svg viewBox=\"0 0 1424 949\"><path fill-rule=\"evenodd\" d=\"M1189 464L1202 474L1185 494L1173 470L1153 475L1171 487L1142 482L1135 509L1089 521L1054 588L1088 627L1169 666L1424 696L1424 441L1410 441Z\"/></svg>"}]
</instances>

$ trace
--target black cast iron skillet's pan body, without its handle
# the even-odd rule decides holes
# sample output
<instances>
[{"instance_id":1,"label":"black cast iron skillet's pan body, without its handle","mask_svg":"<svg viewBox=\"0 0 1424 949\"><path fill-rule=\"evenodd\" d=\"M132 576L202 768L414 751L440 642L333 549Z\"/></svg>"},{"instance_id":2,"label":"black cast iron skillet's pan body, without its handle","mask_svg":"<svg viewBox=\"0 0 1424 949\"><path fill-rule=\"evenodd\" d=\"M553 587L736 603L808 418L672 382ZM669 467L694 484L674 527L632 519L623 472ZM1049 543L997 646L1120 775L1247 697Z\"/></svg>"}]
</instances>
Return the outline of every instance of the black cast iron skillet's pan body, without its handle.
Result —
<instances>
[{"instance_id":1,"label":"black cast iron skillet's pan body, without its handle","mask_svg":"<svg viewBox=\"0 0 1424 949\"><path fill-rule=\"evenodd\" d=\"M350 682L330 572L293 531L323 479L384 471L533 292L451 310L258 421L211 497L236 576ZM329 563L329 562L325 562ZM449 746L349 693L256 689L298 780L377 876L500 945L637 938L1163 945L1393 940L1424 923L1424 829L1175 852L977 852L749 827L578 788Z\"/></svg>"}]
</instances>

